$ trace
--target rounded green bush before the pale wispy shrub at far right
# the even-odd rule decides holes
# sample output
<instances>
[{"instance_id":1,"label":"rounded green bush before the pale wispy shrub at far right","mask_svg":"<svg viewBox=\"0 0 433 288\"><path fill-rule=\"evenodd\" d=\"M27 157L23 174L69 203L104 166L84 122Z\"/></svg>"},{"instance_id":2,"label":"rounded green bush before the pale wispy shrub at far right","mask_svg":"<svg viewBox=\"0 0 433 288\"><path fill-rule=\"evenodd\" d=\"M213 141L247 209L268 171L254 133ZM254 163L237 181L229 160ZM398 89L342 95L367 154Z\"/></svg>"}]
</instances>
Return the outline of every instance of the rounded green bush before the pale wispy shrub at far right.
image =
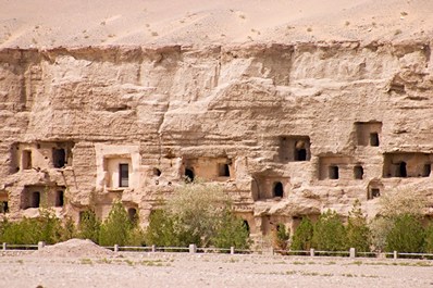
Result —
<instances>
[{"instance_id":1,"label":"rounded green bush before the pale wispy shrub at far right","mask_svg":"<svg viewBox=\"0 0 433 288\"><path fill-rule=\"evenodd\" d=\"M420 253L423 251L423 245L424 230L418 218L409 214L396 216L386 236L385 250L387 252Z\"/></svg>"}]
</instances>

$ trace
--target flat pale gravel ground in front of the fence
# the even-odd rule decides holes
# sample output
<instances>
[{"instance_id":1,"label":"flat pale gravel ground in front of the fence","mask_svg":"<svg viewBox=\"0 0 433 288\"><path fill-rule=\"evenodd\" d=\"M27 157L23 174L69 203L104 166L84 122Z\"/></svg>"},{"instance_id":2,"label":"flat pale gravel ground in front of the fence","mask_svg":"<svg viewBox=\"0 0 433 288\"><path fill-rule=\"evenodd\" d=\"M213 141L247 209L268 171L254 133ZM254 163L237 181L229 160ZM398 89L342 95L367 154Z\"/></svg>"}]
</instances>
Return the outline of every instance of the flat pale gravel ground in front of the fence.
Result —
<instances>
[{"instance_id":1,"label":"flat pale gravel ground in front of the fence","mask_svg":"<svg viewBox=\"0 0 433 288\"><path fill-rule=\"evenodd\" d=\"M116 253L0 256L0 287L433 287L433 261Z\"/></svg>"}]
</instances>

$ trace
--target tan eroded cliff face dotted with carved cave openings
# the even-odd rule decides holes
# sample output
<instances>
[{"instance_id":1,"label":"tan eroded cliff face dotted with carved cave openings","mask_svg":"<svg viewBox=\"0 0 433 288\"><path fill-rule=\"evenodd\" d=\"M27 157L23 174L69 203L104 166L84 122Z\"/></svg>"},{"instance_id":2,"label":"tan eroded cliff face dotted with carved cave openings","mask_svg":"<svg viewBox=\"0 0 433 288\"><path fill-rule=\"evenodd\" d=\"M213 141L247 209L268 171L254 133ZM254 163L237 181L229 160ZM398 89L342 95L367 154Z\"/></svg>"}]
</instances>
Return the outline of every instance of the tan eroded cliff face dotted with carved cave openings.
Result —
<instances>
[{"instance_id":1,"label":"tan eroded cliff face dotted with carved cave openings","mask_svg":"<svg viewBox=\"0 0 433 288\"><path fill-rule=\"evenodd\" d=\"M147 217L184 176L218 181L253 235L359 199L433 205L429 42L0 51L0 200ZM425 211L433 214L433 209Z\"/></svg>"}]
</instances>

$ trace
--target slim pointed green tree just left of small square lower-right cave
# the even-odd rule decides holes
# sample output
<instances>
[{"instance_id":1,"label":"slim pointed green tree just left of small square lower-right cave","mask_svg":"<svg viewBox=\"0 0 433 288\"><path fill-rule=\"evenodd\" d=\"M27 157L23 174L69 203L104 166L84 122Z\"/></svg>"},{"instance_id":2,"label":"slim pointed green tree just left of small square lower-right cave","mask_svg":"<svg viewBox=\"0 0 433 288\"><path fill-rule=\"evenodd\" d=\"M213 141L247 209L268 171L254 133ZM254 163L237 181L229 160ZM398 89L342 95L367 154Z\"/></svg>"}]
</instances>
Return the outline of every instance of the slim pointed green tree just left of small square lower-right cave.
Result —
<instances>
[{"instance_id":1,"label":"slim pointed green tree just left of small square lower-right cave","mask_svg":"<svg viewBox=\"0 0 433 288\"><path fill-rule=\"evenodd\" d=\"M362 214L361 203L356 200L351 211L349 212L348 223L346 227L347 246L355 248L356 251L370 251L370 228L367 220Z\"/></svg>"}]
</instances>

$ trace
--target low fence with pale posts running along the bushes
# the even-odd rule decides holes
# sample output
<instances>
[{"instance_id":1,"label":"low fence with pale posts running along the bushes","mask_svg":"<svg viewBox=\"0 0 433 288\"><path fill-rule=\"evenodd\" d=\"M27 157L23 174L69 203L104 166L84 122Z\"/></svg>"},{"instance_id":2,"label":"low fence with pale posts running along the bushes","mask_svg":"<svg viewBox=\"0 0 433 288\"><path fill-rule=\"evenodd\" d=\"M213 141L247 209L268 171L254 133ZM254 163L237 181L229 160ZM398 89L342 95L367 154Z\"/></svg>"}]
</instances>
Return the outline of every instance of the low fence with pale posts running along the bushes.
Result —
<instances>
[{"instance_id":1,"label":"low fence with pale posts running along the bushes","mask_svg":"<svg viewBox=\"0 0 433 288\"><path fill-rule=\"evenodd\" d=\"M37 245L10 245L2 243L2 251L32 251L46 247L45 242ZM280 254L296 256L338 256L338 258L392 258L392 259L423 259L433 260L433 253L408 253L408 252L361 252L350 248L348 251L324 251L324 250L250 250L231 248L208 248L189 245L189 247L157 247L157 246L104 246L103 248L114 252L172 252L172 253L225 253L225 254Z\"/></svg>"}]
</instances>

